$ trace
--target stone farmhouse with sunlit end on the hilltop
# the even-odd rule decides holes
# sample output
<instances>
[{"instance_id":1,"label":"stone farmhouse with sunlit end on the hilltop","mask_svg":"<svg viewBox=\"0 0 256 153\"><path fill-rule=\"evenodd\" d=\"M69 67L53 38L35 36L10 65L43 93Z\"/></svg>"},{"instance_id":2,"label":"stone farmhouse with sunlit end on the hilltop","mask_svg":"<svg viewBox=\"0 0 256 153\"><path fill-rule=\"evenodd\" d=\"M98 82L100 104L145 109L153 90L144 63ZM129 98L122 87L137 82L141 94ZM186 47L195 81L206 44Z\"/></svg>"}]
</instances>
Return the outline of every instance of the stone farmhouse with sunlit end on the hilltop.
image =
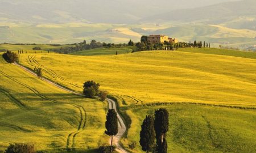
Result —
<instances>
[{"instance_id":1,"label":"stone farmhouse with sunlit end on the hilltop","mask_svg":"<svg viewBox=\"0 0 256 153\"><path fill-rule=\"evenodd\" d=\"M151 44L164 43L164 42L174 42L177 43L177 39L171 39L168 36L164 35L150 35L147 36L147 42Z\"/></svg>"}]
</instances>

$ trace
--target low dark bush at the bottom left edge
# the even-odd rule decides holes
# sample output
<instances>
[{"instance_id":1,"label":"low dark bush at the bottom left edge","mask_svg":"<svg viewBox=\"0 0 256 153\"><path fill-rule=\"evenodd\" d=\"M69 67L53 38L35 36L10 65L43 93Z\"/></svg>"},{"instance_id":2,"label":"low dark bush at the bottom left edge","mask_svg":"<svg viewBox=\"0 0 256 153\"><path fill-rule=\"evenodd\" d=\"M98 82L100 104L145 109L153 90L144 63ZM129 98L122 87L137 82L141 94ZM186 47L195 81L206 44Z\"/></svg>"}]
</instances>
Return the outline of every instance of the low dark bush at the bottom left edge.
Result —
<instances>
[{"instance_id":1,"label":"low dark bush at the bottom left edge","mask_svg":"<svg viewBox=\"0 0 256 153\"><path fill-rule=\"evenodd\" d=\"M5 153L35 153L34 145L29 145L26 143L15 143L11 144Z\"/></svg>"}]
</instances>

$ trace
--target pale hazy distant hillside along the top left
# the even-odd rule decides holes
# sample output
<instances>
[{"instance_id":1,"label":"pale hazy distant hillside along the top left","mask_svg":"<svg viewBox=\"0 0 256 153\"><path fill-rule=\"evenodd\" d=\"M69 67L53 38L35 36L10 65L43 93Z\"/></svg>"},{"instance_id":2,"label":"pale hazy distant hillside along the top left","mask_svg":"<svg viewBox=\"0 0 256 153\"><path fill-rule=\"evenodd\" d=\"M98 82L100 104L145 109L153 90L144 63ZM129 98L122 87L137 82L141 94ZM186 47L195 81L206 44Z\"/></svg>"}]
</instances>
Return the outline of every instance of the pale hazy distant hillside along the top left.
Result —
<instances>
[{"instance_id":1,"label":"pale hazy distant hillside along the top left","mask_svg":"<svg viewBox=\"0 0 256 153\"><path fill-rule=\"evenodd\" d=\"M161 12L226 1L234 0L0 0L0 22L129 24Z\"/></svg>"}]
</instances>

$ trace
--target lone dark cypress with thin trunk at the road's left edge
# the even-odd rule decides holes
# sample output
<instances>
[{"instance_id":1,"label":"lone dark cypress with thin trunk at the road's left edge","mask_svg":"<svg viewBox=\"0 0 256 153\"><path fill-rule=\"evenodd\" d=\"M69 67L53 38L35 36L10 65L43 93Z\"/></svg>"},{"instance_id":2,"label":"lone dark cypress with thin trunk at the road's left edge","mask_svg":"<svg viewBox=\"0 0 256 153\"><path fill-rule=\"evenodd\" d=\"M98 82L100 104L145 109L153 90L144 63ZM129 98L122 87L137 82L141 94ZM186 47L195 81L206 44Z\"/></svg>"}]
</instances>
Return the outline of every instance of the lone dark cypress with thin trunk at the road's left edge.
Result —
<instances>
[{"instance_id":1,"label":"lone dark cypress with thin trunk at the road's left edge","mask_svg":"<svg viewBox=\"0 0 256 153\"><path fill-rule=\"evenodd\" d=\"M105 127L105 133L111 136L111 152L113 152L113 135L117 135L118 133L117 112L115 112L114 109L109 109L109 112L106 116Z\"/></svg>"}]
</instances>

